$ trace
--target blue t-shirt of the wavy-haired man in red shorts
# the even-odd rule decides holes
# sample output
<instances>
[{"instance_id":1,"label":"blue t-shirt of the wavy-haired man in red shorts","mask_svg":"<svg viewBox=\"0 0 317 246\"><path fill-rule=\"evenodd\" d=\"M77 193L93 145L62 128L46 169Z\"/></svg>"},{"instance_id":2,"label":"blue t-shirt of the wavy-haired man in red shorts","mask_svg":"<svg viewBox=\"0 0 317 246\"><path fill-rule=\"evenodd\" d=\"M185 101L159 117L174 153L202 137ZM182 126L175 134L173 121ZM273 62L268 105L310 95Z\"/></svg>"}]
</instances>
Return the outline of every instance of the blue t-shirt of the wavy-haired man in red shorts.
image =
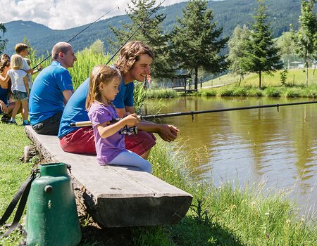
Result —
<instances>
[{"instance_id":1,"label":"blue t-shirt of the wavy-haired man in red shorts","mask_svg":"<svg viewBox=\"0 0 317 246\"><path fill-rule=\"evenodd\" d=\"M125 106L132 107L134 105L133 89L133 82L125 84L122 79L119 92L113 101L113 105L115 105L116 108L125 108ZM78 129L78 127L70 127L70 123L84 122L89 120L88 112L85 108L88 90L89 78L86 79L85 82L82 82L75 93L73 93L73 96L71 96L70 100L67 102L61 118L58 138L62 138L70 132Z\"/></svg>"}]
</instances>

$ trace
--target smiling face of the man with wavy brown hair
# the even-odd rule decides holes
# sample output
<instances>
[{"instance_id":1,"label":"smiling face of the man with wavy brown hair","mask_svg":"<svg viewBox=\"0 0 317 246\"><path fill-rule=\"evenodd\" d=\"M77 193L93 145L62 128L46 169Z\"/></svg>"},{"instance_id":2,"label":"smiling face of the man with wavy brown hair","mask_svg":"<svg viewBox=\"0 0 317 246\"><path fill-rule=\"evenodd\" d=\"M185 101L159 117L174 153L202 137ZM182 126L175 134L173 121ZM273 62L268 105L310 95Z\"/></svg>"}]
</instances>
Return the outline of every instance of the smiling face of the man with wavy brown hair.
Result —
<instances>
[{"instance_id":1,"label":"smiling face of the man with wavy brown hair","mask_svg":"<svg viewBox=\"0 0 317 246\"><path fill-rule=\"evenodd\" d=\"M142 82L147 75L151 73L152 58L147 54L139 56L139 60L135 62L129 73L134 80Z\"/></svg>"}]
</instances>

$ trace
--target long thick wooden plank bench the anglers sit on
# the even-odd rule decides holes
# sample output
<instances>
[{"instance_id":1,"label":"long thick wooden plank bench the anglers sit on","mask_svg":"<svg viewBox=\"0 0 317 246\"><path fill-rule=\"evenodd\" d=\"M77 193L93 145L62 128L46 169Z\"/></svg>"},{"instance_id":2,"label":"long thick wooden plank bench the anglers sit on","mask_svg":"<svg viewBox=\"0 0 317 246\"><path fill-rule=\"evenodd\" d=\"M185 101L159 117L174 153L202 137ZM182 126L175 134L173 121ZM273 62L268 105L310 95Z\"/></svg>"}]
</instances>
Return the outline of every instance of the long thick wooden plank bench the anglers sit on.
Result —
<instances>
[{"instance_id":1,"label":"long thick wooden plank bench the anglers sit on","mask_svg":"<svg viewBox=\"0 0 317 246\"><path fill-rule=\"evenodd\" d=\"M100 166L93 155L64 152L56 136L27 136L47 162L71 165L75 196L104 227L176 224L187 213L192 195L134 167Z\"/></svg>"}]
</instances>

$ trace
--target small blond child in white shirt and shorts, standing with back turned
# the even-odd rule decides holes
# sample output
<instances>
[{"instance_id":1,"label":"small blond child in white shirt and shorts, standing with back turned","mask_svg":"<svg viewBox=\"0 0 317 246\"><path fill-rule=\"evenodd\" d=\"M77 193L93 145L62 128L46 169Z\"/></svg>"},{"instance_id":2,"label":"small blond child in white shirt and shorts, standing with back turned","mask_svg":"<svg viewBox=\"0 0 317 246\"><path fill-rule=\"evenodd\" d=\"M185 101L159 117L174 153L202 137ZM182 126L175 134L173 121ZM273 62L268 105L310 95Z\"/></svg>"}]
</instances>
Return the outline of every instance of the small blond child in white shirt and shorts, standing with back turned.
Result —
<instances>
[{"instance_id":1,"label":"small blond child in white shirt and shorts, standing with back turned","mask_svg":"<svg viewBox=\"0 0 317 246\"><path fill-rule=\"evenodd\" d=\"M11 70L8 70L6 77L1 79L1 82L8 82L11 79L11 91L13 93L13 101L15 101L15 107L12 110L11 119L8 123L16 124L15 115L17 114L20 105L22 104L22 118L23 126L30 125L27 117L29 114L29 107L27 99L29 94L29 84L27 83L26 75L27 73L22 70L23 58L19 55L13 55L11 57Z\"/></svg>"}]
</instances>

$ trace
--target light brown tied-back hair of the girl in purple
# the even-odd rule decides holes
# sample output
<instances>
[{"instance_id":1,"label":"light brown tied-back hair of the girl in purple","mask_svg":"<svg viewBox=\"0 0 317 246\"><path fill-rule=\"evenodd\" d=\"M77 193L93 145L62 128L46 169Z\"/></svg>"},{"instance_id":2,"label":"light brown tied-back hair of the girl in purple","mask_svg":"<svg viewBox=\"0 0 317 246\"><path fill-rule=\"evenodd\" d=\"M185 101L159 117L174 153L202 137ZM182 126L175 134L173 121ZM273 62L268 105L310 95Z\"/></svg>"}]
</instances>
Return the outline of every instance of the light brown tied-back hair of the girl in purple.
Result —
<instances>
[{"instance_id":1,"label":"light brown tied-back hair of the girl in purple","mask_svg":"<svg viewBox=\"0 0 317 246\"><path fill-rule=\"evenodd\" d=\"M86 100L86 108L89 110L94 101L101 102L101 93L99 91L100 84L108 84L114 80L120 80L121 75L119 70L107 65L97 65L92 69L92 74L89 78L89 91Z\"/></svg>"}]
</instances>

